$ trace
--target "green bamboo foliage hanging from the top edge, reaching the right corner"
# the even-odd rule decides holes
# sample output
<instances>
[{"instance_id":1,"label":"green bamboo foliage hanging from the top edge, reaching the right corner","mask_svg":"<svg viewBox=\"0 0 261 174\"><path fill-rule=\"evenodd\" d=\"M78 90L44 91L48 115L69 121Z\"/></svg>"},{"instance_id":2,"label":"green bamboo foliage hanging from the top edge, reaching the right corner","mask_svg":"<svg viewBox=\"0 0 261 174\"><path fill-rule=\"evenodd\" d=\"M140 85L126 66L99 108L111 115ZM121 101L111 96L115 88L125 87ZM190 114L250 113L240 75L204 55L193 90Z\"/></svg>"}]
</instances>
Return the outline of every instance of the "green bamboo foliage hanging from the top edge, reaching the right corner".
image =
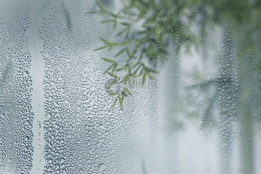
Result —
<instances>
[{"instance_id":1,"label":"green bamboo foliage hanging from the top edge, reaching the right corner","mask_svg":"<svg viewBox=\"0 0 261 174\"><path fill-rule=\"evenodd\" d=\"M254 1L252 4L247 0L240 3L230 0L222 1L205 1L205 0L126 0L122 1L124 7L117 13L105 9L99 1L96 1L99 10L87 13L98 13L100 15L107 15L110 19L102 21L101 23L113 23L113 29L118 27L118 24L123 28L117 33L116 37L123 37L121 43L112 43L105 38L99 37L104 46L101 46L95 51L108 47L111 51L114 46L123 47L115 56L126 53L126 64L118 68L118 63L114 60L102 58L103 60L112 63L112 65L105 71L114 78L109 88L112 87L116 80L120 83L126 84L130 79L140 78L143 79L152 77L152 74L158 73L158 62L164 63L169 57L169 48L172 48L175 53L178 53L181 46L185 46L185 51L190 52L192 44L198 50L200 39L195 33L191 32L190 27L195 22L196 14L200 13L204 16L202 24L209 22L221 22L222 15L233 15L239 22L251 20L257 21L260 18L254 18L251 9L255 7L260 12L261 3ZM209 13L208 8L212 8L215 13ZM187 9L191 9L189 12ZM242 9L242 10L239 10ZM200 11L200 12L198 12ZM211 10L210 10L211 11ZM226 12L224 14L224 12ZM252 15L250 15L252 14ZM254 15L259 16L259 13ZM208 18L206 17L208 16ZM183 18L188 19L184 22ZM142 21L142 22L141 22ZM141 22L142 29L135 29L135 23ZM258 22L257 22L258 23ZM202 35L204 35L204 27L202 27ZM125 36L124 36L125 35ZM145 60L144 60L145 58ZM144 63L148 62L148 63ZM116 73L126 75L120 79ZM104 74L105 74L104 73ZM129 83L129 85L131 85ZM113 92L110 95L117 95L117 98L112 106L116 104L117 100L120 101L122 109L122 102L124 97L128 97L125 92ZM122 109L123 110L123 109Z\"/></svg>"}]
</instances>

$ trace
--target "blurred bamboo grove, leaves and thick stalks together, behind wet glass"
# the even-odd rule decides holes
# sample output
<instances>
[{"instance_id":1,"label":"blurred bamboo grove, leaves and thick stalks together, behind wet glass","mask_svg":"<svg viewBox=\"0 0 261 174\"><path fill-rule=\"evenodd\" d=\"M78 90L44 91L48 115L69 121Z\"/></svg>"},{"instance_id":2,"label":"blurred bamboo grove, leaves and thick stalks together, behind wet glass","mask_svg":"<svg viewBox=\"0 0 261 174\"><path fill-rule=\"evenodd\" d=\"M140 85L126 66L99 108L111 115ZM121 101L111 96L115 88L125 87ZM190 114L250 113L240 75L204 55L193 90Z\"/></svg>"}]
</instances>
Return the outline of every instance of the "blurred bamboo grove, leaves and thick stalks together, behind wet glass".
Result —
<instances>
[{"instance_id":1,"label":"blurred bamboo grove, leaves and thick stalks together, behind wet glass","mask_svg":"<svg viewBox=\"0 0 261 174\"><path fill-rule=\"evenodd\" d=\"M201 134L192 133L201 143L197 151L218 156L215 172L255 173L261 1L128 0L118 11L97 5L87 13L105 15L101 23L120 28L117 42L100 37L105 45L94 50L121 49L114 59L102 58L111 64L104 73L114 78L108 88L118 80L131 86L132 78L152 78L165 70L167 129L194 127ZM126 63L118 67L122 54ZM109 94L116 98L112 107L119 101L123 110L124 98L131 96L126 90ZM208 149L212 142L215 147Z\"/></svg>"}]
</instances>

